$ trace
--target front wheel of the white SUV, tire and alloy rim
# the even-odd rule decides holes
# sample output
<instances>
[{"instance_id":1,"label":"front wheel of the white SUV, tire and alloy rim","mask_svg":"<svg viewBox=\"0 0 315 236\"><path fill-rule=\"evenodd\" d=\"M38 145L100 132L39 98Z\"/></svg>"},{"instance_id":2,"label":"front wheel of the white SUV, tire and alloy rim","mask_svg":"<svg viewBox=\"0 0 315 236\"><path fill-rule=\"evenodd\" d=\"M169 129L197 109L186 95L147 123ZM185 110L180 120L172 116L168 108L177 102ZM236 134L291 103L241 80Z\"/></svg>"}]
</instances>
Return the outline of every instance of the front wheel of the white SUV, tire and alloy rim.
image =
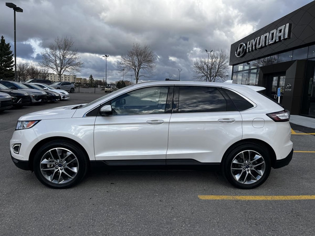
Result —
<instances>
[{"instance_id":1,"label":"front wheel of the white SUV, tire and alloy rim","mask_svg":"<svg viewBox=\"0 0 315 236\"><path fill-rule=\"evenodd\" d=\"M86 175L88 158L81 147L52 141L38 149L33 170L40 182L51 188L69 188Z\"/></svg>"}]
</instances>

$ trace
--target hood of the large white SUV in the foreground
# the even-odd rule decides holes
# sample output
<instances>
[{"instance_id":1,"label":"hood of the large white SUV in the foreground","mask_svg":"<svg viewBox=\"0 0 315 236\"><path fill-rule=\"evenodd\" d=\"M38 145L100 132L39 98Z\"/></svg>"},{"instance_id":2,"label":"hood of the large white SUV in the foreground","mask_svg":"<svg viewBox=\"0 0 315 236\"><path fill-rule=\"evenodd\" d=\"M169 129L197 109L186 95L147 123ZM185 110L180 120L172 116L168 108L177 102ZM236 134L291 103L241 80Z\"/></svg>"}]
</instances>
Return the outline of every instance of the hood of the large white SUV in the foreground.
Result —
<instances>
[{"instance_id":1,"label":"hood of the large white SUV in the foreground","mask_svg":"<svg viewBox=\"0 0 315 236\"><path fill-rule=\"evenodd\" d=\"M77 107L79 105L80 104L33 112L33 113L20 117L19 120L71 118L76 111L76 109L72 109L72 108Z\"/></svg>"}]
</instances>

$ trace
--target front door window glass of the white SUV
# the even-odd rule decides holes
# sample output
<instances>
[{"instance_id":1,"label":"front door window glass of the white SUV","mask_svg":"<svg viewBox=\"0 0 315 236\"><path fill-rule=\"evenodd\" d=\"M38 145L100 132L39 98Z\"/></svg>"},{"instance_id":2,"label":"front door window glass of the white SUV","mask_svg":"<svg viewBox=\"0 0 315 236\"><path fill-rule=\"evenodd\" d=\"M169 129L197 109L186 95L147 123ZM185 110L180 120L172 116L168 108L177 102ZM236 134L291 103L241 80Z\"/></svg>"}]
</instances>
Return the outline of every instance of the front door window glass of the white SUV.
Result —
<instances>
[{"instance_id":1,"label":"front door window glass of the white SUV","mask_svg":"<svg viewBox=\"0 0 315 236\"><path fill-rule=\"evenodd\" d=\"M111 101L113 115L144 115L165 112L168 86L148 87L125 93Z\"/></svg>"}]
</instances>

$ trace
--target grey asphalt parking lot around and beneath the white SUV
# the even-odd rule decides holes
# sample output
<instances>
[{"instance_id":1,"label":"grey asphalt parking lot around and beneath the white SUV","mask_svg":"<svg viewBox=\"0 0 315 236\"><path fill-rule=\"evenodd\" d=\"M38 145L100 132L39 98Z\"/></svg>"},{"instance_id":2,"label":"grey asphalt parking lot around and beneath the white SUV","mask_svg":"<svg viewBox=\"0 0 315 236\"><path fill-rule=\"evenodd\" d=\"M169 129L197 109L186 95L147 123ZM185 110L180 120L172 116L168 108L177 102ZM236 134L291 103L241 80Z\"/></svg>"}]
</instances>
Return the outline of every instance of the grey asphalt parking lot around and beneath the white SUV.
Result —
<instances>
[{"instance_id":1,"label":"grey asphalt parking lot around and beneath the white SUV","mask_svg":"<svg viewBox=\"0 0 315 236\"><path fill-rule=\"evenodd\" d=\"M24 114L80 104L101 93L0 114L0 235L313 236L315 130L292 125L291 163L252 190L218 171L95 170L77 186L55 190L15 167L9 140Z\"/></svg>"}]
</instances>

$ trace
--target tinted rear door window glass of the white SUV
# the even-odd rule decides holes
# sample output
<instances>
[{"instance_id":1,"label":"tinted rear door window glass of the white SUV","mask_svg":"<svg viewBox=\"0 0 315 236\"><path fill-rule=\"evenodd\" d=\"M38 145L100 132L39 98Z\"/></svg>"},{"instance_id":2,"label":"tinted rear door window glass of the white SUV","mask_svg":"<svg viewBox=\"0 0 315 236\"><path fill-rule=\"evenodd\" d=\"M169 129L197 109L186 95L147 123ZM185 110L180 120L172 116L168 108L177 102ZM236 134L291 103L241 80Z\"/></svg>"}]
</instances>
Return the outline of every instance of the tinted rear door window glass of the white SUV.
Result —
<instances>
[{"instance_id":1,"label":"tinted rear door window glass of the white SUV","mask_svg":"<svg viewBox=\"0 0 315 236\"><path fill-rule=\"evenodd\" d=\"M180 86L179 113L226 112L227 101L215 87Z\"/></svg>"}]
</instances>

